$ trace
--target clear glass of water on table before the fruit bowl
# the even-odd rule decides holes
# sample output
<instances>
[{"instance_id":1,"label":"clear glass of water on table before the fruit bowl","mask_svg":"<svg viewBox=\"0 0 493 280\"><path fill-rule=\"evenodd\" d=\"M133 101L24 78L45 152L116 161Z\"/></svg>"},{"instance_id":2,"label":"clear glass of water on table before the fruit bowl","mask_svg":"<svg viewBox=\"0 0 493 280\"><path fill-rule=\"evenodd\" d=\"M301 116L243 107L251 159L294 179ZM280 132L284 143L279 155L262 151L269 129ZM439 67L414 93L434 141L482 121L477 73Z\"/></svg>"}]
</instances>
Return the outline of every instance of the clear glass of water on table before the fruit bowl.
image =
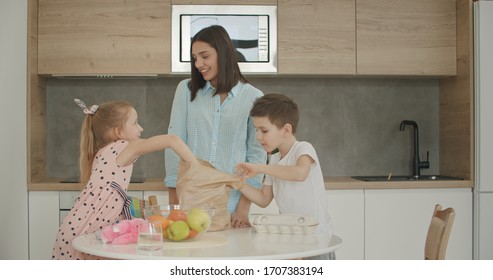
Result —
<instances>
[{"instance_id":1,"label":"clear glass of water on table before the fruit bowl","mask_svg":"<svg viewBox=\"0 0 493 280\"><path fill-rule=\"evenodd\" d=\"M137 230L137 249L159 250L163 247L163 229L160 221L140 222Z\"/></svg>"}]
</instances>

